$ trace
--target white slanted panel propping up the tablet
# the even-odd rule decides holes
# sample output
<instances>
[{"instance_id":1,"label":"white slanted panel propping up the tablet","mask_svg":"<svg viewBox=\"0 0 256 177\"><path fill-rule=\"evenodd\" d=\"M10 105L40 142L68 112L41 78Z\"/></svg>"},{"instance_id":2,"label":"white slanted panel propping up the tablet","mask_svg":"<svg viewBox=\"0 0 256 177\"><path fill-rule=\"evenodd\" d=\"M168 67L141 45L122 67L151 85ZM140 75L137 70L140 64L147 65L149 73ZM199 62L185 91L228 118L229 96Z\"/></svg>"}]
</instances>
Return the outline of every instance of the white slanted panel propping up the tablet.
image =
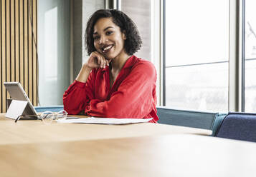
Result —
<instances>
[{"instance_id":1,"label":"white slanted panel propping up the tablet","mask_svg":"<svg viewBox=\"0 0 256 177\"><path fill-rule=\"evenodd\" d=\"M16 119L21 116L27 106L27 101L12 100L5 114L8 118Z\"/></svg>"}]
</instances>

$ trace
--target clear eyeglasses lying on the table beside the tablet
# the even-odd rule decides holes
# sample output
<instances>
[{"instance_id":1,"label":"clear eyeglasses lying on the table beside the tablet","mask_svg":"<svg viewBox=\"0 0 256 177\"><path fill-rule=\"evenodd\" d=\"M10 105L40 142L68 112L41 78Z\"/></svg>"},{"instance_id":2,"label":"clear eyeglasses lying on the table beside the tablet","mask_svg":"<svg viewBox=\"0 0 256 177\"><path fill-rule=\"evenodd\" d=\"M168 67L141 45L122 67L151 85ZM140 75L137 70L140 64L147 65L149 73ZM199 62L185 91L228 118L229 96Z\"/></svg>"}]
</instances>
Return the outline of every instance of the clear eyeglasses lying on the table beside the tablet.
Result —
<instances>
[{"instance_id":1,"label":"clear eyeglasses lying on the table beside the tablet","mask_svg":"<svg viewBox=\"0 0 256 177\"><path fill-rule=\"evenodd\" d=\"M54 113L52 111L45 111L41 113L40 115L21 115L18 118L16 118L16 121L19 121L19 119L39 119L43 121L45 124L50 124L52 121L57 120L65 120L67 118L67 111L62 110L57 113Z\"/></svg>"}]
</instances>

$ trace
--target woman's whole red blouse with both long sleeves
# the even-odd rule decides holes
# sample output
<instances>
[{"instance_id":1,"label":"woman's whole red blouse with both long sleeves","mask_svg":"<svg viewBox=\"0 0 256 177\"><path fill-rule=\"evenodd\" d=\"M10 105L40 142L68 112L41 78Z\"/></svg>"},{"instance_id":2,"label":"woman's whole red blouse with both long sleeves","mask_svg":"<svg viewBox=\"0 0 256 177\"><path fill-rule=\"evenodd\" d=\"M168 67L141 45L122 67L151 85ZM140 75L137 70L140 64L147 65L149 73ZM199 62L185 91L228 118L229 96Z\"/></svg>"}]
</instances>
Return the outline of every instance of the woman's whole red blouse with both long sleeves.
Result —
<instances>
[{"instance_id":1,"label":"woman's whole red blouse with both long sleeves","mask_svg":"<svg viewBox=\"0 0 256 177\"><path fill-rule=\"evenodd\" d=\"M86 83L74 81L63 95L69 114L108 118L153 118L156 123L156 69L131 56L110 89L109 67L93 69Z\"/></svg>"}]
</instances>

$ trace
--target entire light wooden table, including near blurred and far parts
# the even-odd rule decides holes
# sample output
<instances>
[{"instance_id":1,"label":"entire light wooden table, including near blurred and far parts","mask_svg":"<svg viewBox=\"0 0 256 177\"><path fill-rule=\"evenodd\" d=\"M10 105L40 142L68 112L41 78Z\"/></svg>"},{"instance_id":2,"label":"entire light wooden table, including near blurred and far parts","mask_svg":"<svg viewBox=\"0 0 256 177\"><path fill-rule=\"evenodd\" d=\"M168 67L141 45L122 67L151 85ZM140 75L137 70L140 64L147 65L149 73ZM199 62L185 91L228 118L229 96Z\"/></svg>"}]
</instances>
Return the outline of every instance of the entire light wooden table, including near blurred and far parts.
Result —
<instances>
[{"instance_id":1,"label":"entire light wooden table, including near blurred and far parts","mask_svg":"<svg viewBox=\"0 0 256 177\"><path fill-rule=\"evenodd\" d=\"M0 176L256 176L256 143L192 129L2 120Z\"/></svg>"}]
</instances>

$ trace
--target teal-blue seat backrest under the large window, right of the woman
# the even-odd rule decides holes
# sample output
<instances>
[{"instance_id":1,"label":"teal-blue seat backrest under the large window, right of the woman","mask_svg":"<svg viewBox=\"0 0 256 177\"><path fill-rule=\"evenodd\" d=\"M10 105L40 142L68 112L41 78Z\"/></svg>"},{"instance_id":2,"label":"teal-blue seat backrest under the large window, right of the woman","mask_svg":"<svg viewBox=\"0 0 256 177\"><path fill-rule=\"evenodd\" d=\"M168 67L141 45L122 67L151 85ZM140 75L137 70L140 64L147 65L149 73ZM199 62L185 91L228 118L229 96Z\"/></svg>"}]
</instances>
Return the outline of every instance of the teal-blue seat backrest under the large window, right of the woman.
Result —
<instances>
[{"instance_id":1,"label":"teal-blue seat backrest under the large window, right of the woman","mask_svg":"<svg viewBox=\"0 0 256 177\"><path fill-rule=\"evenodd\" d=\"M209 129L212 130L212 136L215 136L217 128L222 123L224 116L227 115L227 113L185 111L160 106L156 109L159 117L158 123Z\"/></svg>"}]
</instances>

